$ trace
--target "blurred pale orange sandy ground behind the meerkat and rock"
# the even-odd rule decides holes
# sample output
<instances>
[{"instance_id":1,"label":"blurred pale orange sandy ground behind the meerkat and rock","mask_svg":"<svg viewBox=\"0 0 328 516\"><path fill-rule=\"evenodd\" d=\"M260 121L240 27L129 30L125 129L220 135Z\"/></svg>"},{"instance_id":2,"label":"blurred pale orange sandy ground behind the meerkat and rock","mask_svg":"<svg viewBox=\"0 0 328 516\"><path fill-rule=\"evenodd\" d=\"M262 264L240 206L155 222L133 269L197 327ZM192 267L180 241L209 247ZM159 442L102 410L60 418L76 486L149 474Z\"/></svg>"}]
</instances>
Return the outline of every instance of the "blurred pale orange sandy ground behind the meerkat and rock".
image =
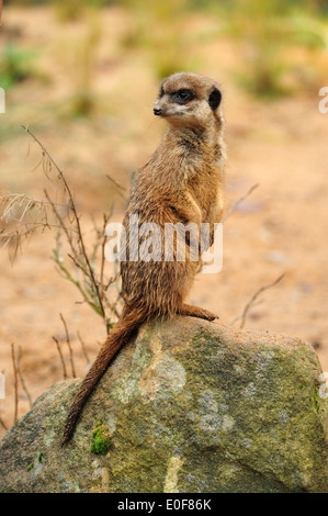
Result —
<instances>
[{"instance_id":1,"label":"blurred pale orange sandy ground behind the meerkat and rock","mask_svg":"<svg viewBox=\"0 0 328 516\"><path fill-rule=\"evenodd\" d=\"M43 195L47 180L42 169L34 170L39 149L20 127L29 123L64 167L87 235L91 217L101 221L113 199L114 220L121 221L123 215L124 204L105 173L127 187L131 170L148 159L165 130L163 122L151 113L158 79L151 75L149 61L132 51L124 58L117 57L125 16L113 9L104 18L106 31L92 80L105 108L86 119L65 115L75 76L70 48L80 35L79 24L65 27L54 13L42 9L11 9L5 19L9 26L20 29L15 36L20 45L44 45L38 66L50 78L32 79L8 94L7 113L0 115L0 187L37 199ZM191 18L185 23L196 31L212 21ZM236 317L253 293L285 273L278 285L261 295L246 326L307 340L315 347L323 370L328 371L328 114L318 111L318 89L270 103L255 100L231 79L231 69L238 65L235 53L234 44L224 38L205 42L199 71L223 85L227 207L253 184L259 186L224 225L222 272L200 274L190 301L217 312L222 324L238 327ZM86 368L86 359L77 332L91 359L105 336L100 317L86 304L77 304L79 293L56 271L49 258L54 237L54 232L34 236L13 266L7 250L0 253L0 371L7 382L0 416L8 427L14 411L11 343L16 352L21 347L21 371L35 400L63 378L53 335L61 343L71 375L59 313L69 327L78 375ZM20 383L19 414L29 406Z\"/></svg>"}]
</instances>

